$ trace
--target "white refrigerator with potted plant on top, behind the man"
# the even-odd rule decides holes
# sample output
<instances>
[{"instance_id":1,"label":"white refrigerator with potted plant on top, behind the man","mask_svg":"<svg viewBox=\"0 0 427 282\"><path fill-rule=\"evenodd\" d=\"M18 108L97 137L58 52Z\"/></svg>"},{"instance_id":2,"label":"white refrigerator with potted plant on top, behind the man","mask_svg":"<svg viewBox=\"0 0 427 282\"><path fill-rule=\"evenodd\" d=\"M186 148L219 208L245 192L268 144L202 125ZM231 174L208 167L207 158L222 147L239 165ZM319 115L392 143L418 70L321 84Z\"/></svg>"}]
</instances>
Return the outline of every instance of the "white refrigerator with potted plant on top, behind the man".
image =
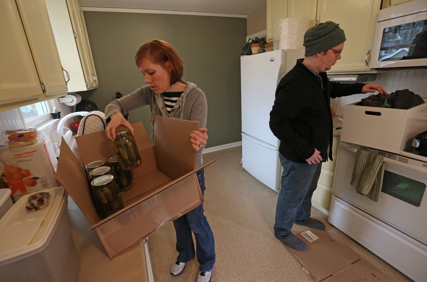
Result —
<instances>
[{"instance_id":1,"label":"white refrigerator with potted plant on top, behind the man","mask_svg":"<svg viewBox=\"0 0 427 282\"><path fill-rule=\"evenodd\" d=\"M270 111L277 84L304 58L304 49L281 49L240 57L242 93L242 166L267 187L279 192L280 141L270 131Z\"/></svg>"}]
</instances>

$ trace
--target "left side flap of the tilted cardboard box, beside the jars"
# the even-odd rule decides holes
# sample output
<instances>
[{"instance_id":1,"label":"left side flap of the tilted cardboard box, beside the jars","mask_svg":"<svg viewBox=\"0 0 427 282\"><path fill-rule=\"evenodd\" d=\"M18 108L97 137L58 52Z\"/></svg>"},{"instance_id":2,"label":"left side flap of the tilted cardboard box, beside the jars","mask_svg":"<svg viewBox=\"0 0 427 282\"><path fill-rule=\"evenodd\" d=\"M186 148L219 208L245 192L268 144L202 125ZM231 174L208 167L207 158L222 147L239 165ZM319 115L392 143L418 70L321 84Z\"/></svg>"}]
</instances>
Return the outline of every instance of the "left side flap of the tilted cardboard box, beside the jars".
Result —
<instances>
[{"instance_id":1,"label":"left side flap of the tilted cardboard box, beside the jars","mask_svg":"<svg viewBox=\"0 0 427 282\"><path fill-rule=\"evenodd\" d=\"M103 133L103 132L102 132ZM89 194L88 178L85 169L68 147L64 138L61 141L61 153L59 154L56 179L67 190L76 205L82 210L91 224L101 220Z\"/></svg>"}]
</instances>

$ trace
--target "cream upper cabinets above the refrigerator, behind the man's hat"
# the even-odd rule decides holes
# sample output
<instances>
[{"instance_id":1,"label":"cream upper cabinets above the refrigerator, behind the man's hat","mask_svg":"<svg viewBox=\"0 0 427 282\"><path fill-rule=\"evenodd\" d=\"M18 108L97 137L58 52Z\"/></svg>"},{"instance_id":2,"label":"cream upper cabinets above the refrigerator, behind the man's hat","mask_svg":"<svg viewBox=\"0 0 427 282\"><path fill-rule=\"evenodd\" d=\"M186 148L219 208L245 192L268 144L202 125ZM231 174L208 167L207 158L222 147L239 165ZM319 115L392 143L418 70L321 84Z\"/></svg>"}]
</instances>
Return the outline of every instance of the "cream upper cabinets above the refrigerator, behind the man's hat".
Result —
<instances>
[{"instance_id":1,"label":"cream upper cabinets above the refrigerator, behind the man's hat","mask_svg":"<svg viewBox=\"0 0 427 282\"><path fill-rule=\"evenodd\" d=\"M273 1L275 2L275 1ZM368 72L370 52L374 39L374 29L381 0L282 0L286 6L286 17L309 17L311 25L332 20L344 29L344 51L339 63L328 73ZM269 10L272 9L272 10ZM277 20L270 17L278 9L278 4L268 6L267 1L267 35L269 22ZM273 22L270 24L272 36Z\"/></svg>"}]
</instances>

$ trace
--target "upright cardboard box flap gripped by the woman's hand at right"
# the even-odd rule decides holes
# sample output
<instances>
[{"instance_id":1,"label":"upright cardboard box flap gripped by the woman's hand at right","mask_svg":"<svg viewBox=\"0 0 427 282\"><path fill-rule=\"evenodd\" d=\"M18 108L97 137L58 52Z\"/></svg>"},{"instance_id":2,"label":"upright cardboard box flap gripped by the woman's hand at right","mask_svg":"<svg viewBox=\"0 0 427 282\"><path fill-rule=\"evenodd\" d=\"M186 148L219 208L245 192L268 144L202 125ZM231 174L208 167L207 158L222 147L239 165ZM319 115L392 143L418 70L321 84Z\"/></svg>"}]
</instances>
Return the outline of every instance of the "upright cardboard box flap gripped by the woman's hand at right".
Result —
<instances>
[{"instance_id":1,"label":"upright cardboard box flap gripped by the woman's hand at right","mask_svg":"<svg viewBox=\"0 0 427 282\"><path fill-rule=\"evenodd\" d=\"M155 116L154 148L158 168L173 179L194 169L196 152L190 133L199 129L199 122Z\"/></svg>"}]
</instances>

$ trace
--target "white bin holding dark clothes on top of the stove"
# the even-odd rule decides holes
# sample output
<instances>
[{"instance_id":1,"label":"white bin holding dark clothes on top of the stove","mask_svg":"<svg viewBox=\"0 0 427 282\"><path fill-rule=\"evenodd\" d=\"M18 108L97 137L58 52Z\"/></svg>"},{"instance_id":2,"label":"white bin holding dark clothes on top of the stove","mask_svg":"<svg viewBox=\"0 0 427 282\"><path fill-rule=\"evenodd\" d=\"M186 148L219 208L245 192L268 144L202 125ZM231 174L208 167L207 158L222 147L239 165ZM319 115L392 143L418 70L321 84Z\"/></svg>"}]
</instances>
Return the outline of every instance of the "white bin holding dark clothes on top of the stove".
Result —
<instances>
[{"instance_id":1,"label":"white bin holding dark clothes on top of the stove","mask_svg":"<svg viewBox=\"0 0 427 282\"><path fill-rule=\"evenodd\" d=\"M427 103L408 110L357 103L345 105L341 141L399 154L427 129Z\"/></svg>"}]
</instances>

